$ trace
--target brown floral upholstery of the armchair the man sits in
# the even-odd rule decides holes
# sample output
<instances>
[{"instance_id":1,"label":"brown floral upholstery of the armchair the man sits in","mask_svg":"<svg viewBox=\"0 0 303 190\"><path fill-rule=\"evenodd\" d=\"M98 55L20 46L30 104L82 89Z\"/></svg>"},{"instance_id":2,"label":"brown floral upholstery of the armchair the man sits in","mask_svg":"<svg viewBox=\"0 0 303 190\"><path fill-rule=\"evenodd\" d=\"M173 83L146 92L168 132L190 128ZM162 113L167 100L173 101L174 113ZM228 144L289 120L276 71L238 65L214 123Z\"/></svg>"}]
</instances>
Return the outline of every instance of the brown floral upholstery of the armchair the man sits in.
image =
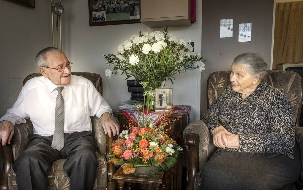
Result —
<instances>
[{"instance_id":1,"label":"brown floral upholstery of the armchair the man sits in","mask_svg":"<svg viewBox=\"0 0 303 190\"><path fill-rule=\"evenodd\" d=\"M98 74L95 73L85 73L85 72L72 72L74 75L83 76L88 80L92 81L95 85L96 89L100 94L102 94L102 79ZM26 81L31 78L42 76L40 73L34 73L28 75L24 81L23 85ZM116 118L115 118L116 119ZM118 119L116 119L118 122ZM28 145L28 135L33 133L32 122L27 119L26 123L17 124L15 126L15 134L12 138L12 153L14 161L16 158L22 154L23 150ZM107 161L104 155L106 155L106 135L104 133L101 119L92 117L92 133L95 139L95 143L97 146L97 160L98 160L98 168L96 172L96 180L94 188L102 188L107 186ZM48 189L52 190L68 190L69 189L69 177L66 175L62 166L66 159L60 159L53 162L52 167L50 167L47 171L47 175L49 178ZM8 174L8 187L10 190L18 189L16 185L16 174L11 169Z\"/></svg>"}]
</instances>

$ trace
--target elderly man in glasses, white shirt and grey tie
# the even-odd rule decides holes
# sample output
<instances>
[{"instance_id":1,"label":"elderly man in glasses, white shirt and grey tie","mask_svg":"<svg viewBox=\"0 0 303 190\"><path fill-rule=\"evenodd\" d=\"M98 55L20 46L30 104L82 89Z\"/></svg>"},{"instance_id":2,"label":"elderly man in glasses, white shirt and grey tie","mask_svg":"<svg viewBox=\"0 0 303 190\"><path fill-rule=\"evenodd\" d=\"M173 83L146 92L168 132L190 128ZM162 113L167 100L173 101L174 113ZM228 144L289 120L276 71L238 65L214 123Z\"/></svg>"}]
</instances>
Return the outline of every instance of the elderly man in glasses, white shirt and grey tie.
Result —
<instances>
[{"instance_id":1,"label":"elderly man in glasses, white shirt and grey tie","mask_svg":"<svg viewBox=\"0 0 303 190\"><path fill-rule=\"evenodd\" d=\"M36 56L41 77L27 81L13 107L0 119L2 146L10 144L14 125L30 118L34 134L12 168L18 189L47 189L46 171L52 162L67 158L63 169L70 189L92 189L98 166L90 116L102 119L105 134L119 134L112 109L91 81L71 75L72 63L57 48Z\"/></svg>"}]
</instances>

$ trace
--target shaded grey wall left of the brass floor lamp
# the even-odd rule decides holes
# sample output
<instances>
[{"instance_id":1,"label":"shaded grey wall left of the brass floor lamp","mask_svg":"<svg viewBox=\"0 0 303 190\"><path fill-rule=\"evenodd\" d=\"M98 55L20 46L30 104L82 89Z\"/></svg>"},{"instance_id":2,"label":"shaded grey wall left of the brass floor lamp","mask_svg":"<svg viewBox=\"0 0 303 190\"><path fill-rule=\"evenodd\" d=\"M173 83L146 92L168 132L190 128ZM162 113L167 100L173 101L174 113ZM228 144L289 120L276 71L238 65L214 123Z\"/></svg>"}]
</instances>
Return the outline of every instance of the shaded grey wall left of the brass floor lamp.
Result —
<instances>
[{"instance_id":1,"label":"shaded grey wall left of the brass floor lamp","mask_svg":"<svg viewBox=\"0 0 303 190\"><path fill-rule=\"evenodd\" d=\"M0 0L0 116L16 101L23 79L38 72L36 54L52 46L49 15L49 1L30 9Z\"/></svg>"}]
</instances>

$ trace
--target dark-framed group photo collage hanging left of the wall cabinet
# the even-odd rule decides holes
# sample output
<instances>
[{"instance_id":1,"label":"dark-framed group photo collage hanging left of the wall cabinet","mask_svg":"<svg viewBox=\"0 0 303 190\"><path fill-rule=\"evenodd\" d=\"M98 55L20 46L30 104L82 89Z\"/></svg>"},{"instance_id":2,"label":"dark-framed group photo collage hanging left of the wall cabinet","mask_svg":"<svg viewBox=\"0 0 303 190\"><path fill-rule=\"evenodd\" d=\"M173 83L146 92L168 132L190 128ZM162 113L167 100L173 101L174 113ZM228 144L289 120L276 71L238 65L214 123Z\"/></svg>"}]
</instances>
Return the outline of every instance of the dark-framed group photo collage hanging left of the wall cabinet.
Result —
<instances>
[{"instance_id":1,"label":"dark-framed group photo collage hanging left of the wall cabinet","mask_svg":"<svg viewBox=\"0 0 303 190\"><path fill-rule=\"evenodd\" d=\"M140 23L140 0L88 0L89 26Z\"/></svg>"}]
</instances>

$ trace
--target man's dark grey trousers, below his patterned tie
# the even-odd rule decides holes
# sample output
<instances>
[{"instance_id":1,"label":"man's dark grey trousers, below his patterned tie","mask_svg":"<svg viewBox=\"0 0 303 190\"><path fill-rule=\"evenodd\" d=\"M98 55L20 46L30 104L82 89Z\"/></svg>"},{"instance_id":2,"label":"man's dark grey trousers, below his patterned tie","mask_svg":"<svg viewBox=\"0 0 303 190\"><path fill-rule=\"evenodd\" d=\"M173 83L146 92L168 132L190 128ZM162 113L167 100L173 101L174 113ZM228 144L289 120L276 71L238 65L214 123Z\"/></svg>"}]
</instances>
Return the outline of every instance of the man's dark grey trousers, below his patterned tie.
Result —
<instances>
[{"instance_id":1,"label":"man's dark grey trousers, below his patterned tie","mask_svg":"<svg viewBox=\"0 0 303 190\"><path fill-rule=\"evenodd\" d=\"M71 190L94 187L98 162L91 131L65 133L60 151L51 147L53 136L31 134L28 138L28 147L12 166L19 190L47 189L47 169L62 158L67 158L63 169L70 178Z\"/></svg>"}]
</instances>

